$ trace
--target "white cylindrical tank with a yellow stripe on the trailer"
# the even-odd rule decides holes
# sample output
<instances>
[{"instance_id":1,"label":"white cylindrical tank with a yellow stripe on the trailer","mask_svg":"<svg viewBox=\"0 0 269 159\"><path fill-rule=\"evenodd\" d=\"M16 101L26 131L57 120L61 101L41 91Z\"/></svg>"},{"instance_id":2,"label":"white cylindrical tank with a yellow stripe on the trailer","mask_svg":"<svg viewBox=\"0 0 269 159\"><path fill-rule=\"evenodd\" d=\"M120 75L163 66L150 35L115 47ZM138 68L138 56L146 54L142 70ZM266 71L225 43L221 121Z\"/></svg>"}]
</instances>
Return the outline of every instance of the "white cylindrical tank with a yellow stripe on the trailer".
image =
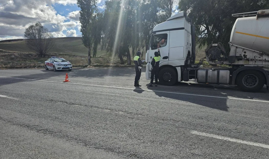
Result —
<instances>
[{"instance_id":1,"label":"white cylindrical tank with a yellow stripe on the trailer","mask_svg":"<svg viewBox=\"0 0 269 159\"><path fill-rule=\"evenodd\" d=\"M238 13L237 15L239 15ZM243 13L241 13L243 14ZM233 15L234 16L234 15ZM230 37L230 45L269 53L269 9L259 10L257 16L236 19ZM230 55L236 55L233 46Z\"/></svg>"}]
</instances>

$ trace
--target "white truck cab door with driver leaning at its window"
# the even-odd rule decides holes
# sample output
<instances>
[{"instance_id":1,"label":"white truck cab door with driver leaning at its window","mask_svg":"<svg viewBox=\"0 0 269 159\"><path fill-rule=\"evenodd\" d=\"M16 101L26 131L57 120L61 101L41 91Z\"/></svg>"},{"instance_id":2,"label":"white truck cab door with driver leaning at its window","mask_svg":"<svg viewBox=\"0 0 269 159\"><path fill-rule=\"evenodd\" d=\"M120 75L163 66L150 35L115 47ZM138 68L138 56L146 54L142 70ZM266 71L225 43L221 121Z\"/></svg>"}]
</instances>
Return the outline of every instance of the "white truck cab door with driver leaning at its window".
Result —
<instances>
[{"instance_id":1,"label":"white truck cab door with driver leaning at its window","mask_svg":"<svg viewBox=\"0 0 269 159\"><path fill-rule=\"evenodd\" d=\"M163 61L168 61L169 55L169 31L162 31L153 34L153 37L150 41L150 49L148 54L148 62L151 62L154 57L154 52L158 52L158 44L161 53L160 64ZM148 67L151 70L151 65Z\"/></svg>"}]
</instances>

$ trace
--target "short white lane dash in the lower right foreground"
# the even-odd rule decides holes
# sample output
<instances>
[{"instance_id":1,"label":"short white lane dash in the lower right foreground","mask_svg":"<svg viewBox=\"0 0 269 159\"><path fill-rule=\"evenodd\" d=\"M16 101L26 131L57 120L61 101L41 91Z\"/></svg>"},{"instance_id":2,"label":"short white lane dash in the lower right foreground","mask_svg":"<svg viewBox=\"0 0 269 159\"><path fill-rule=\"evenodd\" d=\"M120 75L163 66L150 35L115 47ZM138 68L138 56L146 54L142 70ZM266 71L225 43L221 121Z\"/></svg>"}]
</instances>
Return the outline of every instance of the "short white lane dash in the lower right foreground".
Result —
<instances>
[{"instance_id":1,"label":"short white lane dash in the lower right foreground","mask_svg":"<svg viewBox=\"0 0 269 159\"><path fill-rule=\"evenodd\" d=\"M235 139L235 138L225 137L225 136L220 136L220 135L214 135L214 134L209 134L209 133L204 133L204 132L199 132L199 131L190 131L190 133L195 134L195 135L213 137L215 139L227 140L227 141L231 141L231 142L237 142L237 143L242 143L242 144L246 144L246 145L258 146L258 147L263 147L263 148L269 149L269 145L267 145L267 144L256 143L256 142L251 142L251 141L244 141L244 140L240 140L240 139Z\"/></svg>"}]
</instances>

